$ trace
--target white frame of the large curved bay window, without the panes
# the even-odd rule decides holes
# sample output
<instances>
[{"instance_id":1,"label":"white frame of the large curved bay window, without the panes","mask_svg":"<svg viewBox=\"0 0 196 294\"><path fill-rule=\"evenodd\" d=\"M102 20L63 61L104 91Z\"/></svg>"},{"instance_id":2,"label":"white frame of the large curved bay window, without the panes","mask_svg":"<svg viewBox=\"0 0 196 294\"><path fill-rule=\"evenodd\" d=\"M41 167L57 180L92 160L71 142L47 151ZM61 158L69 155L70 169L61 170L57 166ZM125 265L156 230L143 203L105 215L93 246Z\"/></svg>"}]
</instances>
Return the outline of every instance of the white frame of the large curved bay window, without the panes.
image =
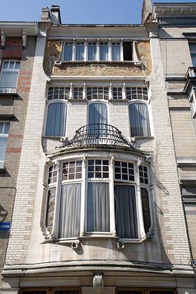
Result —
<instances>
[{"instance_id":1,"label":"white frame of the large curved bay window, without the panes","mask_svg":"<svg viewBox=\"0 0 196 294\"><path fill-rule=\"evenodd\" d=\"M88 160L109 160L109 178L88 178ZM76 160L83 160L82 165L82 177L80 179L74 180L62 180L61 175L63 171L63 162L67 161L76 161ZM131 182L128 180L115 180L114 178L114 161L125 161L133 163L134 169L134 180ZM146 163L134 156L122 156L116 154L113 157L113 154L80 154L75 156L62 156L61 158L57 158L57 160L53 160L51 165L55 165L56 162L58 163L58 174L55 183L47 184L47 195L48 191L51 187L56 187L56 201L55 201L55 208L54 208L54 223L52 229L52 237L56 240L63 242L73 242L73 240L78 240L84 236L87 237L89 235L94 236L111 236L116 237L116 224L115 224L115 209L114 209L114 185L132 185L135 187L135 201L136 201L136 213L138 219L138 239L119 239L118 242L141 242L146 238L144 232L144 219L142 214L142 196L140 192L140 188L144 187L147 189L149 193L149 209L150 209L150 216L151 216L151 228L153 227L153 216L152 216L152 202L151 202L151 190L150 190L150 173L149 167L147 167ZM139 174L139 165L144 165L148 170L148 185L144 183L140 183L140 174ZM49 171L50 166L47 168ZM49 172L47 171L47 181ZM67 185L70 183L81 183L81 207L80 207L80 235L74 238L65 238L65 239L58 239L58 224L59 224L59 216L60 216L60 205L61 205L61 187L63 185ZM87 232L87 186L88 182L107 182L109 183L109 213L110 213L110 231L109 232ZM47 197L45 198L45 213L46 213L46 205L47 205ZM149 229L150 231L150 229ZM146 232L147 233L147 232ZM118 237L118 236L117 236ZM66 241L67 240L67 241Z\"/></svg>"}]
</instances>

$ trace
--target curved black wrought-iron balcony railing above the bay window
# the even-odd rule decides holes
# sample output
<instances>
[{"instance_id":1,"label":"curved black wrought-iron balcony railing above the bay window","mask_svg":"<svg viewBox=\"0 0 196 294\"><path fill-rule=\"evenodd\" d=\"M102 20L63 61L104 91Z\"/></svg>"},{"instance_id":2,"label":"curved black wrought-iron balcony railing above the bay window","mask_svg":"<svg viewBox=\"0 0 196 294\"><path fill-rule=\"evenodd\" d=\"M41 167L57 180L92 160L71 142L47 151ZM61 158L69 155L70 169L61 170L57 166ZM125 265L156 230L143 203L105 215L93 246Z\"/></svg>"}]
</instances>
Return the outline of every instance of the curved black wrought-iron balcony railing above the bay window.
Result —
<instances>
[{"instance_id":1,"label":"curved black wrought-iron balcony railing above the bay window","mask_svg":"<svg viewBox=\"0 0 196 294\"><path fill-rule=\"evenodd\" d=\"M133 148L133 145L116 127L105 123L94 123L80 127L74 138L67 142L65 140L60 148L89 145L116 145Z\"/></svg>"}]
</instances>

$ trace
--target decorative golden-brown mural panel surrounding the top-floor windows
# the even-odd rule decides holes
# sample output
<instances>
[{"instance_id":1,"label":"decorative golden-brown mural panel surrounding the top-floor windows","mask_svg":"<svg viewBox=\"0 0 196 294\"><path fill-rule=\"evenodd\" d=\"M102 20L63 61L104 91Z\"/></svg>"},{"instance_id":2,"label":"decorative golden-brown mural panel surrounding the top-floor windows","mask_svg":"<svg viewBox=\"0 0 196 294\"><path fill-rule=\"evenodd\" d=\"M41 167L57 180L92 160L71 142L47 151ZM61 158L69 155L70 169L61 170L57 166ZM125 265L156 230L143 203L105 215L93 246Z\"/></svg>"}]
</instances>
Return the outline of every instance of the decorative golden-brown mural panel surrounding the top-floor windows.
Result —
<instances>
[{"instance_id":1,"label":"decorative golden-brown mural panel surrounding the top-floor windows","mask_svg":"<svg viewBox=\"0 0 196 294\"><path fill-rule=\"evenodd\" d=\"M53 76L149 76L152 71L149 41L138 41L139 67L131 63L63 63L54 65L61 52L61 43L47 41L43 67L45 74Z\"/></svg>"}]
</instances>

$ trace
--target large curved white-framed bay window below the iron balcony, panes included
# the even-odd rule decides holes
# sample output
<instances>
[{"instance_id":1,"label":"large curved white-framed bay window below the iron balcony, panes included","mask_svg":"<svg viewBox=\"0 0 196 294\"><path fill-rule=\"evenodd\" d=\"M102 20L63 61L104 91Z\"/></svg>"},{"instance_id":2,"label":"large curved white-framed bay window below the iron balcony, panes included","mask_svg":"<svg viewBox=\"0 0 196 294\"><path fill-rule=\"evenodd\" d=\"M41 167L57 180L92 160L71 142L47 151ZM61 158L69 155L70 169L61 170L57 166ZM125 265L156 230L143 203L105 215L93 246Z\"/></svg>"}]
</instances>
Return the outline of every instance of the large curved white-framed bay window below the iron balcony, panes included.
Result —
<instances>
[{"instance_id":1,"label":"large curved white-framed bay window below the iron balcony, panes included","mask_svg":"<svg viewBox=\"0 0 196 294\"><path fill-rule=\"evenodd\" d=\"M117 235L123 242L144 239L152 227L151 193L149 168L138 162L85 154L50 165L47 232L58 240L83 235Z\"/></svg>"}]
</instances>

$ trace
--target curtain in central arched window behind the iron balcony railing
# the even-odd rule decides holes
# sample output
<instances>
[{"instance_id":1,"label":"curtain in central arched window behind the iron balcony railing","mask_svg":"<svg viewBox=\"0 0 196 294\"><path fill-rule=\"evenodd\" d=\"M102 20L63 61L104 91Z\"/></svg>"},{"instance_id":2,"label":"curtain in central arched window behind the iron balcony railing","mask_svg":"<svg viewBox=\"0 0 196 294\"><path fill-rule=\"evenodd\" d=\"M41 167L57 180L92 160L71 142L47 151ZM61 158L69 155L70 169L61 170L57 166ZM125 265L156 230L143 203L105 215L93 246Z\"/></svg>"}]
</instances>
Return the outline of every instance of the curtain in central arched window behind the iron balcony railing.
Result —
<instances>
[{"instance_id":1,"label":"curtain in central arched window behind the iron balcony railing","mask_svg":"<svg viewBox=\"0 0 196 294\"><path fill-rule=\"evenodd\" d=\"M107 135L107 126L97 124L107 124L107 105L105 103L91 103L89 105L89 136Z\"/></svg>"}]
</instances>

